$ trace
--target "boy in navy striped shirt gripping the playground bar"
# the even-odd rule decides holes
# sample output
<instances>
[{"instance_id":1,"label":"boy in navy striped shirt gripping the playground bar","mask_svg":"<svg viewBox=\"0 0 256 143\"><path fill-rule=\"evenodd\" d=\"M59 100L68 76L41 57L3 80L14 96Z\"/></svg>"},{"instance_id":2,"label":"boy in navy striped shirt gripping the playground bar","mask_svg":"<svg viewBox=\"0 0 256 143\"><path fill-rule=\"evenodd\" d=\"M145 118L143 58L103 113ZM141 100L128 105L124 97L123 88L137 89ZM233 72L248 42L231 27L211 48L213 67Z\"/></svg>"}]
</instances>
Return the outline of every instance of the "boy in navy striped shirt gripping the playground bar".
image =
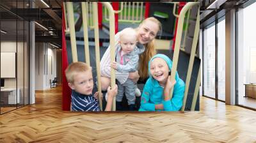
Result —
<instances>
[{"instance_id":1,"label":"boy in navy striped shirt gripping the playground bar","mask_svg":"<svg viewBox=\"0 0 256 143\"><path fill-rule=\"evenodd\" d=\"M97 100L98 93L93 95L92 67L83 62L75 62L65 70L68 86L72 89L72 111L100 111ZM108 103L105 111L110 111L117 86L108 87Z\"/></svg>"}]
</instances>

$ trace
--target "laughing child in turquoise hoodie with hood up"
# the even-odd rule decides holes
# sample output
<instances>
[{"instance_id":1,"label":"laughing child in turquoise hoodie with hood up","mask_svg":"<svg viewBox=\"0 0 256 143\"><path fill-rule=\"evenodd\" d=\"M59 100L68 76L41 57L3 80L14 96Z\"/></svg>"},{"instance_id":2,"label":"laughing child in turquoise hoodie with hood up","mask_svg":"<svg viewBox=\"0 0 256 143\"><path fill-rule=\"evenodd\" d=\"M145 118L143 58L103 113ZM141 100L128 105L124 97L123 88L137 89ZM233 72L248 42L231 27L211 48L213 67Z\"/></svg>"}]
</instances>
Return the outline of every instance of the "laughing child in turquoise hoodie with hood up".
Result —
<instances>
[{"instance_id":1,"label":"laughing child in turquoise hoodie with hood up","mask_svg":"<svg viewBox=\"0 0 256 143\"><path fill-rule=\"evenodd\" d=\"M182 107L185 84L179 78L170 82L169 72L172 69L172 61L164 54L156 54L148 62L148 78L141 96L139 111L178 111ZM174 86L174 87L173 87ZM173 96L170 99L170 89Z\"/></svg>"}]
</instances>

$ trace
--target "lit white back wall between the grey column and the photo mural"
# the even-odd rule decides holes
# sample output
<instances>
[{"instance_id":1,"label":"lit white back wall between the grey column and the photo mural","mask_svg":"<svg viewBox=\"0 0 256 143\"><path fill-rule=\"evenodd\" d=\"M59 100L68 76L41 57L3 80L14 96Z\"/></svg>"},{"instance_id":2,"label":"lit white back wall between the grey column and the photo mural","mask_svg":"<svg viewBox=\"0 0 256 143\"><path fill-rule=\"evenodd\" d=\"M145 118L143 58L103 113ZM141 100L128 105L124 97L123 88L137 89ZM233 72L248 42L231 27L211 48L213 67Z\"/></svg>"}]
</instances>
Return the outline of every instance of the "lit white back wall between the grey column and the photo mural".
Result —
<instances>
[{"instance_id":1,"label":"lit white back wall between the grey column and the photo mural","mask_svg":"<svg viewBox=\"0 0 256 143\"><path fill-rule=\"evenodd\" d=\"M50 79L56 77L56 49L52 48L49 43L36 43L36 90L51 88Z\"/></svg>"}]
</instances>

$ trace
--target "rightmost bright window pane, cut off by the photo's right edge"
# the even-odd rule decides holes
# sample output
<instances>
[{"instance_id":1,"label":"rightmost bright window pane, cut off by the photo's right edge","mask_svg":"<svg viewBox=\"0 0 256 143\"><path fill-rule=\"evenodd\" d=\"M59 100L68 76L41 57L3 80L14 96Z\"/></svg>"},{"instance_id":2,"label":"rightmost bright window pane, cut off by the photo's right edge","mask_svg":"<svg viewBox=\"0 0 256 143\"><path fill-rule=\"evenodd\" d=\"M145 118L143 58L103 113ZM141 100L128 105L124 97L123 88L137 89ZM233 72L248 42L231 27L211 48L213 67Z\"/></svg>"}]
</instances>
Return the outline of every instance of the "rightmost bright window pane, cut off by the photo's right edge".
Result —
<instances>
[{"instance_id":1,"label":"rightmost bright window pane, cut off by the photo's right edge","mask_svg":"<svg viewBox=\"0 0 256 143\"><path fill-rule=\"evenodd\" d=\"M256 99L247 96L246 84L256 82L255 13L256 3L237 11L237 103L253 109L256 109Z\"/></svg>"}]
</instances>

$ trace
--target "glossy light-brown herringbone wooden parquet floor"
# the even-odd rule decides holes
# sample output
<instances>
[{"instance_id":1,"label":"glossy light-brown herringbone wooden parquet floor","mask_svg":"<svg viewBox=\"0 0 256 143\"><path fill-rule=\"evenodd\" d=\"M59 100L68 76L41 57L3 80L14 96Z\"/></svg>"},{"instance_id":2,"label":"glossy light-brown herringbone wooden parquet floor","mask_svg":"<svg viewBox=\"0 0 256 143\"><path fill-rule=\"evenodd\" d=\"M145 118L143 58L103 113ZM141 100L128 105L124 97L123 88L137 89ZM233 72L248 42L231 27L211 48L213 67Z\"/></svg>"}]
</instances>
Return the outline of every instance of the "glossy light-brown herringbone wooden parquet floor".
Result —
<instances>
[{"instance_id":1,"label":"glossy light-brown herringbone wooden parquet floor","mask_svg":"<svg viewBox=\"0 0 256 143\"><path fill-rule=\"evenodd\" d=\"M61 88L0 116L0 142L256 142L256 112L200 98L200 112L61 110Z\"/></svg>"}]
</instances>

